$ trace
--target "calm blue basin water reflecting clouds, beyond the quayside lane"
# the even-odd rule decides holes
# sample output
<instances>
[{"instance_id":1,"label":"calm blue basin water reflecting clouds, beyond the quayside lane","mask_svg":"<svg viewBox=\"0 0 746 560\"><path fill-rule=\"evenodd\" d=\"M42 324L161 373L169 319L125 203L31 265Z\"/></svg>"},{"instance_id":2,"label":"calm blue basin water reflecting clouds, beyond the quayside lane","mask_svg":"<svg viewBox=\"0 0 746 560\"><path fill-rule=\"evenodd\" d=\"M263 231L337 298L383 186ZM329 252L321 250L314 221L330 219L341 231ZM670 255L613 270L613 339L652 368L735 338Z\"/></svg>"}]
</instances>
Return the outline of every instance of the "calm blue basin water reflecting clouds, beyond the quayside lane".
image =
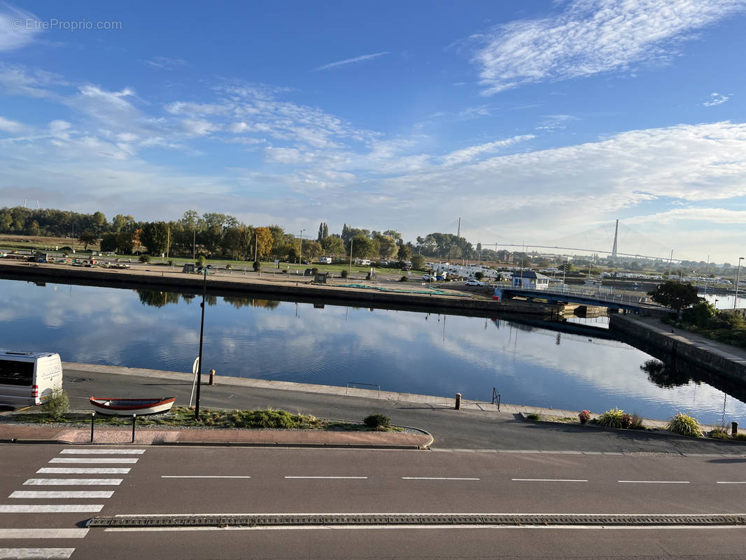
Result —
<instances>
[{"instance_id":1,"label":"calm blue basin water reflecting clouds, beyond the quayside lane","mask_svg":"<svg viewBox=\"0 0 746 560\"><path fill-rule=\"evenodd\" d=\"M0 280L0 346L65 361L189 372L201 296ZM427 393L645 417L690 411L739 420L746 405L705 383L648 379L651 357L624 343L506 320L210 296L204 370L220 376ZM602 326L604 320L589 320ZM601 324L598 324L601 323Z\"/></svg>"}]
</instances>

